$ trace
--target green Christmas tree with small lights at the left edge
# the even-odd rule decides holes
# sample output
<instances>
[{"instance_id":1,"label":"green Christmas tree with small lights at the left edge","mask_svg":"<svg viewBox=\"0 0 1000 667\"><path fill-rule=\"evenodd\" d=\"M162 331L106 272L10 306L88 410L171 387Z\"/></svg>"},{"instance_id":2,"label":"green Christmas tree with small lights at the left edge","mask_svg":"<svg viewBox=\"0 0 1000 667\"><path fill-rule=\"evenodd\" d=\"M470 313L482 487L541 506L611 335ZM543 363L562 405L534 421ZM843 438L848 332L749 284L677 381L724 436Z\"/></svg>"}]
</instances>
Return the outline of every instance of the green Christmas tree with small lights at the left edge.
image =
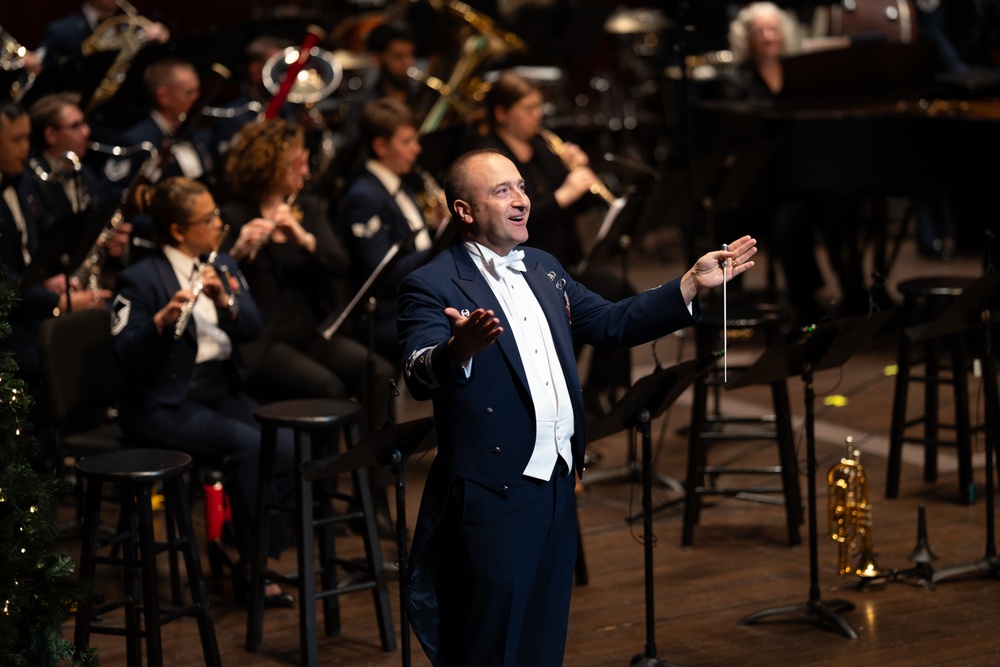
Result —
<instances>
[{"instance_id":1,"label":"green Christmas tree with small lights at the left edge","mask_svg":"<svg viewBox=\"0 0 1000 667\"><path fill-rule=\"evenodd\" d=\"M0 285L0 341L10 337L16 298ZM0 351L0 665L90 667L97 651L88 647L74 658L62 632L86 590L73 577L72 557L56 547L63 483L32 466L39 445L30 407L12 353Z\"/></svg>"}]
</instances>

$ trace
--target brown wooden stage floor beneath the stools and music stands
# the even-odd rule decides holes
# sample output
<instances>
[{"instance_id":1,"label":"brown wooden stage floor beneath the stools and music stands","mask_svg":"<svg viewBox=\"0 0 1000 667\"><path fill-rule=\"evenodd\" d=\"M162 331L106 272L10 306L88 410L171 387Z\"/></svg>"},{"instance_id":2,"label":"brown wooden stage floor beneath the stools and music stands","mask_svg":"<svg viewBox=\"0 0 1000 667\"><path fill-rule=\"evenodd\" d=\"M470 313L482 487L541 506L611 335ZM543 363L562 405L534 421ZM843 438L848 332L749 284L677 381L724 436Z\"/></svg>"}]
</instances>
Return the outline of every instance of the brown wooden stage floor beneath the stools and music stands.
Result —
<instances>
[{"instance_id":1,"label":"brown wooden stage floor beneath the stools and music stands","mask_svg":"<svg viewBox=\"0 0 1000 667\"><path fill-rule=\"evenodd\" d=\"M755 280L763 276L761 264ZM649 256L638 258L633 266L632 280L640 288L655 285L681 268L670 261L653 261ZM890 287L915 275L975 276L977 272L975 257L931 262L909 251L904 252L894 270ZM731 291L729 298L740 298L740 293ZM662 363L669 364L679 358L690 358L692 346L689 337L670 336L657 344L656 353ZM647 345L633 351L633 378L652 367L650 350ZM760 351L752 340L742 345L734 343L730 363L752 361ZM916 545L921 505L926 508L929 546L938 556L933 563L935 569L975 563L987 553L981 436L975 441L974 504L957 502L952 450L942 450L938 480L928 483L922 480L922 452L915 446L908 446L904 452L899 498L884 497L893 386L893 377L886 374L886 369L895 363L895 353L894 334L884 333L871 340L842 368L817 373L814 383L818 595L823 601L843 599L854 605L853 610L842 612L841 616L856 629L858 639L850 640L821 627L805 614L775 616L767 622L741 625L740 619L751 612L803 604L810 599L808 526L801 527L802 544L789 547L782 507L737 498L713 498L708 499L703 509L690 548L680 546L682 503L656 511L653 516L652 639L655 655L661 661L702 667L1000 665L997 638L1000 579L995 572L992 576L950 579L936 586L903 577L863 589L858 587L856 578L837 576L837 546L826 536L826 474L844 452L848 436L862 451L872 506L873 543L880 566L886 570L912 567L908 556ZM789 382L789 389L799 479L805 496L804 390L797 378ZM970 377L970 390L970 400L981 418L983 397L978 378ZM828 405L827 399L832 396L844 397L846 404ZM945 407L950 406L950 402L945 403ZM917 404L913 405L911 415L919 409ZM761 388L725 392L723 396L723 409L731 413L761 414L769 412L768 406L768 394ZM399 420L424 416L427 409L404 395L400 400ZM687 447L683 429L689 415L688 393L652 423L655 467L663 475L683 479ZM599 460L590 470L628 472L629 450L626 433L591 443L591 451ZM411 526L431 456L433 453L411 461L407 467L407 518ZM730 464L775 461L773 445L762 442L719 445L713 448L712 456L716 461ZM640 510L641 488L636 479L637 471L618 479L587 484L579 494L589 581L574 591L567 665L624 667L635 656L647 653L642 522L627 520ZM720 483L738 481L726 479ZM653 505L670 503L679 495L657 485L653 490ZM200 531L203 526L200 503L194 508L194 516ZM348 536L340 539L338 548L360 553L358 542L357 537ZM77 542L69 540L64 546L70 553L79 553ZM382 542L382 548L384 559L391 562L395 545L387 540ZM207 559L203 560L207 566ZM285 560L289 568L294 568L291 555L286 556L283 564ZM165 568L161 571L165 572ZM102 578L96 588L114 585L110 579ZM245 609L232 602L228 585L213 586L212 590L212 612L223 664L241 667L298 664L295 610L268 610L263 649L260 653L248 653L243 648ZM390 595L398 630L395 580L390 583ZM342 621L340 636L317 638L320 664L371 667L402 664L399 648L386 653L379 646L370 594L342 597ZM72 619L67 623L66 633L72 636ZM397 642L401 641L405 639L397 634ZM428 665L417 642L411 638L409 644L411 664ZM95 637L94 645L100 649L103 664L124 664L124 642L120 638ZM201 662L193 620L180 620L164 628L164 662L168 665Z\"/></svg>"}]
</instances>

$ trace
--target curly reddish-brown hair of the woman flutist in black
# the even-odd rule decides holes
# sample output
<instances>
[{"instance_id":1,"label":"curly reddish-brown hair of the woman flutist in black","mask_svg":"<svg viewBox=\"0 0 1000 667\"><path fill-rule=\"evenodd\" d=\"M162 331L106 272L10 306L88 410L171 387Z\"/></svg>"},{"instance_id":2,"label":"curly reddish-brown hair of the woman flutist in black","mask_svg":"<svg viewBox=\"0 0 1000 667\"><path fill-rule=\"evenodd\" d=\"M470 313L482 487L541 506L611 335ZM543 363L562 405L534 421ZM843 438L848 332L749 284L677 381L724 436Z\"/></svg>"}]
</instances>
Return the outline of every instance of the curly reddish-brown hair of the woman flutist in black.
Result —
<instances>
[{"instance_id":1,"label":"curly reddish-brown hair of the woman flutist in black","mask_svg":"<svg viewBox=\"0 0 1000 667\"><path fill-rule=\"evenodd\" d=\"M284 178L289 149L304 144L302 127L283 118L245 126L236 135L226 157L226 173L233 192L259 202Z\"/></svg>"}]
</instances>

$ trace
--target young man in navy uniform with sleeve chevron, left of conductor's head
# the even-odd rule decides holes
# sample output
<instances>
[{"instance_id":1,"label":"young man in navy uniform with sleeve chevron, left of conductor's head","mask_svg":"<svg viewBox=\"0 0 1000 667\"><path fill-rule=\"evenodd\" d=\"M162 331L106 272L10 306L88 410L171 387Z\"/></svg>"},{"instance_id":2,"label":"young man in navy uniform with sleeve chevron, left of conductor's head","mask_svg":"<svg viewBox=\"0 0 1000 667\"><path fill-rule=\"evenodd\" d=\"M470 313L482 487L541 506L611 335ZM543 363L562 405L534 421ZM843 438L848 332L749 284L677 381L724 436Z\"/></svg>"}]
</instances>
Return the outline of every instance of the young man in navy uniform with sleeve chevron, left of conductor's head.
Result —
<instances>
[{"instance_id":1,"label":"young man in navy uniform with sleeve chevron, left of conductor's head","mask_svg":"<svg viewBox=\"0 0 1000 667\"><path fill-rule=\"evenodd\" d=\"M361 139L368 157L348 185L337 229L351 254L349 288L361 288L390 248L401 243L400 258L389 268L376 298L375 349L399 359L396 291L403 277L427 261L437 230L447 217L443 203L424 217L416 195L403 182L420 155L416 119L404 103L390 97L369 102L361 116ZM366 339L365 326L358 332Z\"/></svg>"}]
</instances>

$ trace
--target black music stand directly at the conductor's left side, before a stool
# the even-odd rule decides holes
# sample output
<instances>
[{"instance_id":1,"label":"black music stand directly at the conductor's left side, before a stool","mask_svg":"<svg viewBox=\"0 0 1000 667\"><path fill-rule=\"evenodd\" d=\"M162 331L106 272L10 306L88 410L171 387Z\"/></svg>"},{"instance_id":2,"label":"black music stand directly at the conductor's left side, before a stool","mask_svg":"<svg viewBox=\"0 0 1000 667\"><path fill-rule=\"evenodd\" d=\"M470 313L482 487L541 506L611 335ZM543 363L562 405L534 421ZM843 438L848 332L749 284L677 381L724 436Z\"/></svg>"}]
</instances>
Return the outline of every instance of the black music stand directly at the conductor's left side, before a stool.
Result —
<instances>
[{"instance_id":1,"label":"black music stand directly at the conductor's left side, before a stool","mask_svg":"<svg viewBox=\"0 0 1000 667\"><path fill-rule=\"evenodd\" d=\"M388 465L396 475L396 550L399 559L399 634L403 667L410 664L410 625L406 615L406 578L408 572L406 547L406 486L403 463L412 454L432 449L434 419L424 417L374 431L343 454L325 459L306 461L299 468L302 478L315 482L374 465Z\"/></svg>"}]
</instances>

